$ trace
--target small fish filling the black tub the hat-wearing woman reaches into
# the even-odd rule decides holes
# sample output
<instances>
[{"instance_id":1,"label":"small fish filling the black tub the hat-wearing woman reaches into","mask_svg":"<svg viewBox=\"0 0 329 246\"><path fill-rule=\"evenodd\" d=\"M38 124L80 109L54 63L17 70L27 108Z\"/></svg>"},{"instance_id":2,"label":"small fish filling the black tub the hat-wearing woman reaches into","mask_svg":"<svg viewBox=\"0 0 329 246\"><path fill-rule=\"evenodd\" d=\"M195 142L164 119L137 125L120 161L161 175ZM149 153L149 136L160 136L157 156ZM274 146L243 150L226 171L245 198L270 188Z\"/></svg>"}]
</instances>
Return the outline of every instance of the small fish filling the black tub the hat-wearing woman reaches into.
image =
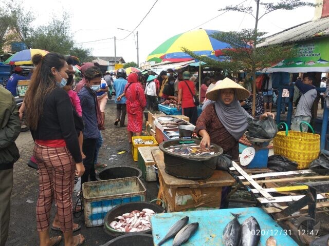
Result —
<instances>
[{"instance_id":1,"label":"small fish filling the black tub the hat-wearing woman reaches into","mask_svg":"<svg viewBox=\"0 0 329 246\"><path fill-rule=\"evenodd\" d=\"M174 145L167 147L166 150L171 153L188 156L208 156L217 153L213 146L210 146L210 148L202 149L197 144Z\"/></svg>"}]
</instances>

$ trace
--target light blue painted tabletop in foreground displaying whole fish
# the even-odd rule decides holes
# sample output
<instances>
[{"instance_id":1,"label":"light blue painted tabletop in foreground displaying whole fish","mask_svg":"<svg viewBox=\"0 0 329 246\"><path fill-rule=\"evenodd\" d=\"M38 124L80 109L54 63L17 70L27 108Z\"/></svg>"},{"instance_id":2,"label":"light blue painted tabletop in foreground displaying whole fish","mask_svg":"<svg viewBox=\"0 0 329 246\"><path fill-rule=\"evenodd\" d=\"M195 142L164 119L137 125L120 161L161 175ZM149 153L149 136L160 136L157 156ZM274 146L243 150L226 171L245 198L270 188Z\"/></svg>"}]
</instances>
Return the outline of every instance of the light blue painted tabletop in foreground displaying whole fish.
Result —
<instances>
[{"instance_id":1,"label":"light blue painted tabletop in foreground displaying whole fish","mask_svg":"<svg viewBox=\"0 0 329 246\"><path fill-rule=\"evenodd\" d=\"M154 245L165 237L169 228L179 219L189 216L189 223L199 222L199 228L189 239L186 245L212 246L224 245L222 240L223 230L228 222L233 219L232 213L243 213L239 217L240 223L253 216L258 220L261 231L259 246L265 246L269 236L275 237L277 246L298 245L289 235L290 231L283 230L268 214L260 208L238 208L238 209L215 209L207 211L189 211L177 213L156 214L151 218ZM293 232L291 232L293 233ZM168 240L163 246L172 245L173 239Z\"/></svg>"}]
</instances>

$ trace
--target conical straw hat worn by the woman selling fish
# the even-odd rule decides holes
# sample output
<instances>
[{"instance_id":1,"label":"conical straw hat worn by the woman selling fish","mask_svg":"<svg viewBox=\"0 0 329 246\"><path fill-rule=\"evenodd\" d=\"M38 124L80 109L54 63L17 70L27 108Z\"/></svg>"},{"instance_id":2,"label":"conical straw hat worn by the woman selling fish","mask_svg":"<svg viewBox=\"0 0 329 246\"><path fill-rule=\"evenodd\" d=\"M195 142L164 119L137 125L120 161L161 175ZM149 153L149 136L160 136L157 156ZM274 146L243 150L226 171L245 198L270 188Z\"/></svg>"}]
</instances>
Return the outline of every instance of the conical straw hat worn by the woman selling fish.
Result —
<instances>
[{"instance_id":1,"label":"conical straw hat worn by the woman selling fish","mask_svg":"<svg viewBox=\"0 0 329 246\"><path fill-rule=\"evenodd\" d=\"M232 79L224 78L223 81L221 81L221 83L216 85L206 94L206 97L210 100L216 101L218 100L218 96L220 95L220 90L222 89L234 89L236 93L236 100L246 99L250 95L247 89L235 83Z\"/></svg>"}]
</instances>

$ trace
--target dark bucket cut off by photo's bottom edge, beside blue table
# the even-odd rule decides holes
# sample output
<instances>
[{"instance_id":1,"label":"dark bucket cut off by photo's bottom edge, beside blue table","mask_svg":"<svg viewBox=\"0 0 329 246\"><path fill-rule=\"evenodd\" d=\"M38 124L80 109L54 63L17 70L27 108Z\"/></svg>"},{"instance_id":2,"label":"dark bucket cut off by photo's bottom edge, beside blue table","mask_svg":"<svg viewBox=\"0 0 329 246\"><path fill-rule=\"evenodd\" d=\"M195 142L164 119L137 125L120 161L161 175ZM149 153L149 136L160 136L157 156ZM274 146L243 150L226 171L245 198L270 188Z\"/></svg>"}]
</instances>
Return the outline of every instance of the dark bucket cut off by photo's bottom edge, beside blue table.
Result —
<instances>
[{"instance_id":1,"label":"dark bucket cut off by photo's bottom edge, beside blue table","mask_svg":"<svg viewBox=\"0 0 329 246\"><path fill-rule=\"evenodd\" d=\"M100 246L153 246L153 236L144 233L126 234L114 238Z\"/></svg>"}]
</instances>

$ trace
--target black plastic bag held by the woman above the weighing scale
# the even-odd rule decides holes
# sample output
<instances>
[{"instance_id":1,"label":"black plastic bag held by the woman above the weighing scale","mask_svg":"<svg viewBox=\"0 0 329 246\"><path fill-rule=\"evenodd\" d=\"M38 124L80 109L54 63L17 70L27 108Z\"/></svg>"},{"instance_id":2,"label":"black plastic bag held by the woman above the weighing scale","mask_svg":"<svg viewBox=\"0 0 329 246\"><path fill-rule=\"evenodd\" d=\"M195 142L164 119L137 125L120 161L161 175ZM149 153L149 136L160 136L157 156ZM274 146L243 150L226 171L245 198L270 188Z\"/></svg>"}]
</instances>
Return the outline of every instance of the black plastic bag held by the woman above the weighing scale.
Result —
<instances>
[{"instance_id":1,"label":"black plastic bag held by the woman above the weighing scale","mask_svg":"<svg viewBox=\"0 0 329 246\"><path fill-rule=\"evenodd\" d=\"M250 137L269 139L277 135L276 121L270 115L265 119L247 118L247 122Z\"/></svg>"}]
</instances>

